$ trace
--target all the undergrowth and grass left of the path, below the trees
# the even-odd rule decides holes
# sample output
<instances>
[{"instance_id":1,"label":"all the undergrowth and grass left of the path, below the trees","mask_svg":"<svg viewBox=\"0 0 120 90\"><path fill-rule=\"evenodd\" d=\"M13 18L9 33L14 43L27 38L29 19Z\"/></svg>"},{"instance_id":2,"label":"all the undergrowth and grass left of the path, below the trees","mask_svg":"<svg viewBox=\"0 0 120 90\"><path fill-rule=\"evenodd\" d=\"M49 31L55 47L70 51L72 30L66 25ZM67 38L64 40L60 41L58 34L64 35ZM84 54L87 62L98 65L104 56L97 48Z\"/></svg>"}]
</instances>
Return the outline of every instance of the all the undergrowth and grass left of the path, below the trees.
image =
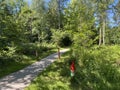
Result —
<instances>
[{"instance_id":1,"label":"all the undergrowth and grass left of the path, below the trees","mask_svg":"<svg viewBox=\"0 0 120 90\"><path fill-rule=\"evenodd\" d=\"M0 51L0 77L18 71L55 51L54 46L48 43L42 45L27 43L17 47L6 47Z\"/></svg>"}]
</instances>

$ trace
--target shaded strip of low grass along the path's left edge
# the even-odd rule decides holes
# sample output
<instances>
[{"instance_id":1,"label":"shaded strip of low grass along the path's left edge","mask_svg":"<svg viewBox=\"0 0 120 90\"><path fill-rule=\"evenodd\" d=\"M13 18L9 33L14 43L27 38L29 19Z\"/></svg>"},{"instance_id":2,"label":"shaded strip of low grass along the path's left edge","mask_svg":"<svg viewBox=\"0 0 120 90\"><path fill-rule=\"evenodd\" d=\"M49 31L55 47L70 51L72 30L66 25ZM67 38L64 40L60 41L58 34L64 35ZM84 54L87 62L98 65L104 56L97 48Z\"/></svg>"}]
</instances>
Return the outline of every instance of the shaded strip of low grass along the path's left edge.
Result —
<instances>
[{"instance_id":1,"label":"shaded strip of low grass along the path's left edge","mask_svg":"<svg viewBox=\"0 0 120 90\"><path fill-rule=\"evenodd\" d=\"M15 71L18 71L52 53L56 52L56 49L52 48L52 49L49 49L49 50L46 50L45 52L42 51L41 53L39 53L38 57L36 58L35 55L18 55L19 57L22 58L22 60L20 61L13 61L13 60L9 60L8 59L8 62L6 61L5 62L5 65L4 66L0 66L0 78L10 74L10 73L13 73Z\"/></svg>"}]
</instances>

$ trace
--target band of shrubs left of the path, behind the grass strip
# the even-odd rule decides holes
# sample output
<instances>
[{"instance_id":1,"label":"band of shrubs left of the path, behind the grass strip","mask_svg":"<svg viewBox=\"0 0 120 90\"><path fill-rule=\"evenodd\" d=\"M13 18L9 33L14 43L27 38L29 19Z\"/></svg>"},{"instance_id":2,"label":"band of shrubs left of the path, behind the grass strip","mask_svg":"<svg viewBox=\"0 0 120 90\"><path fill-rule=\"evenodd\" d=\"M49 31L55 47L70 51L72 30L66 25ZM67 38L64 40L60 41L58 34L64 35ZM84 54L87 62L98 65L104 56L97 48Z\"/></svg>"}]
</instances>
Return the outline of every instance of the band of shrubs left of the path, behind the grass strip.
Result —
<instances>
[{"instance_id":1,"label":"band of shrubs left of the path, behind the grass strip","mask_svg":"<svg viewBox=\"0 0 120 90\"><path fill-rule=\"evenodd\" d=\"M22 44L17 47L5 47L0 51L0 67L7 66L14 62L24 61L23 56L35 56L43 51L50 50L51 47L38 43Z\"/></svg>"}]
</instances>

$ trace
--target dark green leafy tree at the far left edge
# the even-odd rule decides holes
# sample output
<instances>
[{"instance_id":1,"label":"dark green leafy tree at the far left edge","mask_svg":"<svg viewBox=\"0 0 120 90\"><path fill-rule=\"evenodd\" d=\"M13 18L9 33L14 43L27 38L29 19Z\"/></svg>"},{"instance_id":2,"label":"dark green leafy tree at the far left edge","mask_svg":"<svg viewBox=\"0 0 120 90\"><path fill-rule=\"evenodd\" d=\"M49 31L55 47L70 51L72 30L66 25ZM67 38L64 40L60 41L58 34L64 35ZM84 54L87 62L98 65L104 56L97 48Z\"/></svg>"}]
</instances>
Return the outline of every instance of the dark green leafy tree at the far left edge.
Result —
<instances>
[{"instance_id":1,"label":"dark green leafy tree at the far left edge","mask_svg":"<svg viewBox=\"0 0 120 90\"><path fill-rule=\"evenodd\" d=\"M13 15L11 4L6 1L1 2L1 40L4 42L4 47L17 44L20 41L21 29L18 28ZM1 44L3 45L3 44Z\"/></svg>"}]
</instances>

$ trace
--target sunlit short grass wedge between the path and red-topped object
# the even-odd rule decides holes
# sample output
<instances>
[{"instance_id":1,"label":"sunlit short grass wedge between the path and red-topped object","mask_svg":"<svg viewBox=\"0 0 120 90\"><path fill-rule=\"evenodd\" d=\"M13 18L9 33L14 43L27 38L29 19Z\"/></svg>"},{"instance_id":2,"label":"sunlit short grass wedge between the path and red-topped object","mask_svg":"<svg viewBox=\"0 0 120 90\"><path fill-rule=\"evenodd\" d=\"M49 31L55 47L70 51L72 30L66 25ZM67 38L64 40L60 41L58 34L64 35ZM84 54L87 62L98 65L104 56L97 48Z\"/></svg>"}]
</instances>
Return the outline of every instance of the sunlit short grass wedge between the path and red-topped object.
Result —
<instances>
[{"instance_id":1,"label":"sunlit short grass wedge between the path and red-topped object","mask_svg":"<svg viewBox=\"0 0 120 90\"><path fill-rule=\"evenodd\" d=\"M70 90L69 52L46 68L25 90Z\"/></svg>"}]
</instances>

